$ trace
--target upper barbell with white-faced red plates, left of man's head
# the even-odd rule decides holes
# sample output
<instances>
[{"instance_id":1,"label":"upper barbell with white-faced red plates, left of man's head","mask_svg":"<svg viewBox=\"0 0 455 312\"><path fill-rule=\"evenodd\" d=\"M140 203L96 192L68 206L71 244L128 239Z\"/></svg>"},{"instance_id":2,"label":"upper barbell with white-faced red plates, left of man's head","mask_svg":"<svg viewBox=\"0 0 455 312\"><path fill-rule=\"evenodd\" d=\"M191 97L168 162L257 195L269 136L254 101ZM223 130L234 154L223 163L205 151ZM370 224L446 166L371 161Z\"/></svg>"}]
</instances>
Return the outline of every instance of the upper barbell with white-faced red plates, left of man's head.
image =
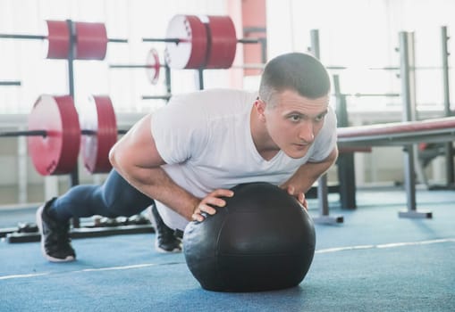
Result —
<instances>
[{"instance_id":1,"label":"upper barbell with white-faced red plates, left of man's head","mask_svg":"<svg viewBox=\"0 0 455 312\"><path fill-rule=\"evenodd\" d=\"M165 62L172 69L228 69L237 44L263 44L262 39L237 39L229 16L175 15L168 24L166 38L143 38L144 42L164 42Z\"/></svg>"}]
</instances>

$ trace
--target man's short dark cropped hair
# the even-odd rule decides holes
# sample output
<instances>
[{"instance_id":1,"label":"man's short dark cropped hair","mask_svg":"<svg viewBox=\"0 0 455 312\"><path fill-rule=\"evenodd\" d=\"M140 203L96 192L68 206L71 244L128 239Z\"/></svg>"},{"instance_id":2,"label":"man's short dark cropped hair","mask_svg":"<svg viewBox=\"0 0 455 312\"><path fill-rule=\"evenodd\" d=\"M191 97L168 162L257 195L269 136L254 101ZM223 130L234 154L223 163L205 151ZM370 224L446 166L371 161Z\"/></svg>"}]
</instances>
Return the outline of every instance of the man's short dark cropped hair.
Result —
<instances>
[{"instance_id":1,"label":"man's short dark cropped hair","mask_svg":"<svg viewBox=\"0 0 455 312\"><path fill-rule=\"evenodd\" d=\"M259 97L270 101L276 92L296 91L316 99L330 92L330 78L324 65L308 53L285 53L265 65Z\"/></svg>"}]
</instances>

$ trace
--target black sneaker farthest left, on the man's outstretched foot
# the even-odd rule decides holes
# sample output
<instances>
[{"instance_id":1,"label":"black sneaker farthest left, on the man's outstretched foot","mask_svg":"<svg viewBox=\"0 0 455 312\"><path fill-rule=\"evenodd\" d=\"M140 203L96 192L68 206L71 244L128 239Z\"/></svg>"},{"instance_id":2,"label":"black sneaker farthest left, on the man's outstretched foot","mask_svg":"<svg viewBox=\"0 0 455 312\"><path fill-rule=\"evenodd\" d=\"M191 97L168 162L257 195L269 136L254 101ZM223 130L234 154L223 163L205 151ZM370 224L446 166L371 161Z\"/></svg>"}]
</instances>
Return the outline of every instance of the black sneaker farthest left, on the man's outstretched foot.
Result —
<instances>
[{"instance_id":1,"label":"black sneaker farthest left, on the man's outstretched foot","mask_svg":"<svg viewBox=\"0 0 455 312\"><path fill-rule=\"evenodd\" d=\"M48 209L52 202L47 201L37 211L37 226L41 234L41 251L52 262L68 262L76 259L70 238L70 223L61 223L51 218Z\"/></svg>"}]
</instances>

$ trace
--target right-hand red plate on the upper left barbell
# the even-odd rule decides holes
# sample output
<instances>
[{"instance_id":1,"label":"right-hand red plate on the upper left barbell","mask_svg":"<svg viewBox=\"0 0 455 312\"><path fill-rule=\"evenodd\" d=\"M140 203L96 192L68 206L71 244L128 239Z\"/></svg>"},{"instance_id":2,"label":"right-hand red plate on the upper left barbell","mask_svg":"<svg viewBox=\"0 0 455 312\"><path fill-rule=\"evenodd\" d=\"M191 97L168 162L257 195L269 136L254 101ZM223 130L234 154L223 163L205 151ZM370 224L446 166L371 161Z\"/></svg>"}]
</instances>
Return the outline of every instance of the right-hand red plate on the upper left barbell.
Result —
<instances>
[{"instance_id":1,"label":"right-hand red plate on the upper left barbell","mask_svg":"<svg viewBox=\"0 0 455 312\"><path fill-rule=\"evenodd\" d=\"M104 60L108 42L105 24L77 21L74 22L74 28L74 59Z\"/></svg>"}]
</instances>

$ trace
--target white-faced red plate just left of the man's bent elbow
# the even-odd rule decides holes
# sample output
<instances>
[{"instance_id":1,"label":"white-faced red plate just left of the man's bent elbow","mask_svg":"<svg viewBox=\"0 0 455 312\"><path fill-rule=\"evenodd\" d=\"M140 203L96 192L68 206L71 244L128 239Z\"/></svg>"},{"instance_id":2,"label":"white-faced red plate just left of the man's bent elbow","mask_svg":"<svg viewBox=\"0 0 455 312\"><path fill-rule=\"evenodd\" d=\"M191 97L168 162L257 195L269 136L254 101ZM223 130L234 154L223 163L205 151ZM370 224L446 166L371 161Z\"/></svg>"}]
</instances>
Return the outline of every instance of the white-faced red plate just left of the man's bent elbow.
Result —
<instances>
[{"instance_id":1,"label":"white-faced red plate just left of the man's bent elbow","mask_svg":"<svg viewBox=\"0 0 455 312\"><path fill-rule=\"evenodd\" d=\"M82 135L81 152L84 166L91 173L106 173L112 168L109 151L117 142L117 121L114 107L108 96L92 96L80 113L83 130L93 135Z\"/></svg>"}]
</instances>

